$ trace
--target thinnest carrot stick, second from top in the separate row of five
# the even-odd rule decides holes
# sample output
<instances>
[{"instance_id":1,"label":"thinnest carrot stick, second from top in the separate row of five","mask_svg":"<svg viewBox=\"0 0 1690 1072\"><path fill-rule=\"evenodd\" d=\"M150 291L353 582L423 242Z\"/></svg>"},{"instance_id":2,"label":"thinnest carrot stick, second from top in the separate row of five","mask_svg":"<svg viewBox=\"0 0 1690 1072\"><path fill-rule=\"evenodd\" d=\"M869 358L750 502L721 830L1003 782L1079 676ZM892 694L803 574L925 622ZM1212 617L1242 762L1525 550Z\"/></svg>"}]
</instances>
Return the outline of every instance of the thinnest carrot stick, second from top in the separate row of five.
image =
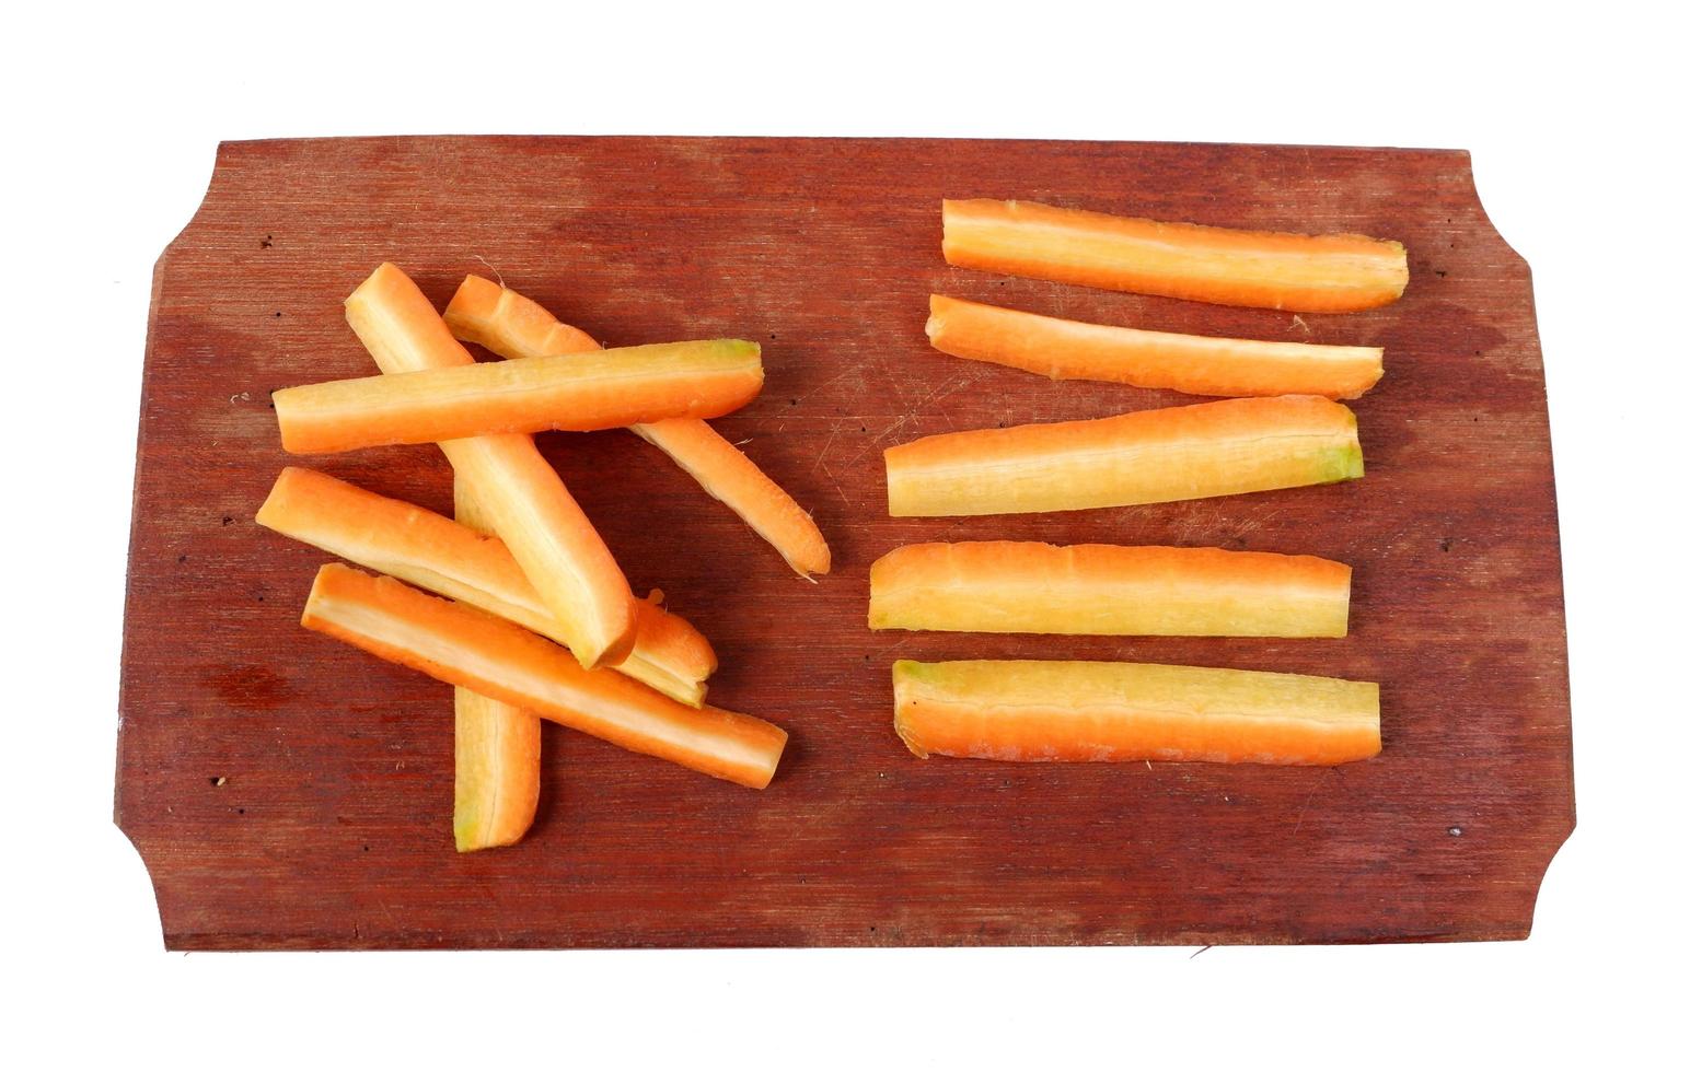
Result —
<instances>
[{"instance_id":1,"label":"thinnest carrot stick, second from top in the separate row of five","mask_svg":"<svg viewBox=\"0 0 1690 1072\"><path fill-rule=\"evenodd\" d=\"M1377 346L1217 339L1082 324L935 294L928 339L957 358L1051 380L1107 380L1188 395L1355 398L1384 375Z\"/></svg>"}]
</instances>

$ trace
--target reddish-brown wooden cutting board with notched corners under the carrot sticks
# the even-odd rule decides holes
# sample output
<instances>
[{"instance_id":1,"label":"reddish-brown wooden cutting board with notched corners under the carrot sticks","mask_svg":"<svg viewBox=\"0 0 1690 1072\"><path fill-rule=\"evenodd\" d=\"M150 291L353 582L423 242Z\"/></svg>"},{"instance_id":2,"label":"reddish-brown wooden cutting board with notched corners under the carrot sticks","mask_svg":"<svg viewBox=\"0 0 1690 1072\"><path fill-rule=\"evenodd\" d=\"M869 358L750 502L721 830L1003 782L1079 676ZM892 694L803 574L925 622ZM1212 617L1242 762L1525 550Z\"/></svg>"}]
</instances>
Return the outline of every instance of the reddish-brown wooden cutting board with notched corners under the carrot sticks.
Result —
<instances>
[{"instance_id":1,"label":"reddish-brown wooden cutting board with notched corners under the carrot sticks","mask_svg":"<svg viewBox=\"0 0 1690 1072\"><path fill-rule=\"evenodd\" d=\"M945 265L940 198L1022 198L1408 245L1403 300L1224 309ZM791 731L766 792L546 726L529 837L451 844L451 694L299 628L324 555L252 517L274 388L375 371L341 299L382 260L468 272L610 344L740 336L767 385L718 427L815 512L810 584L625 432L542 449L639 591L722 657L711 697ZM1191 398L928 348L930 292L1202 334L1376 344L1362 481L997 518L886 515L880 451ZM308 459L436 510L439 452ZM1344 640L870 633L869 564L945 539L1186 544L1355 567ZM117 822L171 949L972 945L1519 939L1573 827L1555 483L1531 277L1467 154L803 138L226 143L159 258L123 635ZM897 657L1129 658L1376 680L1349 766L916 760Z\"/></svg>"}]
</instances>

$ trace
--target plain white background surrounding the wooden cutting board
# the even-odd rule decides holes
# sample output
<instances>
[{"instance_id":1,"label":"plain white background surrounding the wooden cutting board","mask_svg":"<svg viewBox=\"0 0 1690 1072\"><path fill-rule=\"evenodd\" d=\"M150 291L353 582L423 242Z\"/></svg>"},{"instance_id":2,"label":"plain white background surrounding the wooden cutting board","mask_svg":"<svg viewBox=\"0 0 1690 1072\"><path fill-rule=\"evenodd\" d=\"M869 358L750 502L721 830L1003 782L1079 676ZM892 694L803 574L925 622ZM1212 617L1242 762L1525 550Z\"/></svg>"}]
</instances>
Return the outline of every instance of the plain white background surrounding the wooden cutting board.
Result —
<instances>
[{"instance_id":1,"label":"plain white background surrounding the wooden cutting board","mask_svg":"<svg viewBox=\"0 0 1690 1072\"><path fill-rule=\"evenodd\" d=\"M1666 5L1577 19L1426 2L1195 15L1048 0L948 14L551 7L8 15L5 1052L54 1065L103 1052L184 1067L894 1069L1661 1055L1690 952L1690 95L1682 29L1648 14ZM1197 959L162 952L147 876L112 826L152 262L193 214L221 138L493 132L1470 149L1486 208L1533 267L1562 510L1578 831L1550 868L1535 935Z\"/></svg>"}]
</instances>

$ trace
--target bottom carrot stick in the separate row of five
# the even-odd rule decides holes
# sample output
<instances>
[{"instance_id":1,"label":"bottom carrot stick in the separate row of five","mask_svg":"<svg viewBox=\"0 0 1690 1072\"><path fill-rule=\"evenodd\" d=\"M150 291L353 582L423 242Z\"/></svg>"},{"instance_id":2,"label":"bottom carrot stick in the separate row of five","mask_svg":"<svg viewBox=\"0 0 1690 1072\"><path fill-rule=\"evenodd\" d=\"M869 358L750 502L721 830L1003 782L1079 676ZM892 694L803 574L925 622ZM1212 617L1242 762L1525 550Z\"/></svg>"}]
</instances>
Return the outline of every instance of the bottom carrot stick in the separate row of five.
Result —
<instances>
[{"instance_id":1,"label":"bottom carrot stick in the separate row of five","mask_svg":"<svg viewBox=\"0 0 1690 1072\"><path fill-rule=\"evenodd\" d=\"M914 755L1333 765L1379 755L1379 685L1131 662L892 663Z\"/></svg>"}]
</instances>

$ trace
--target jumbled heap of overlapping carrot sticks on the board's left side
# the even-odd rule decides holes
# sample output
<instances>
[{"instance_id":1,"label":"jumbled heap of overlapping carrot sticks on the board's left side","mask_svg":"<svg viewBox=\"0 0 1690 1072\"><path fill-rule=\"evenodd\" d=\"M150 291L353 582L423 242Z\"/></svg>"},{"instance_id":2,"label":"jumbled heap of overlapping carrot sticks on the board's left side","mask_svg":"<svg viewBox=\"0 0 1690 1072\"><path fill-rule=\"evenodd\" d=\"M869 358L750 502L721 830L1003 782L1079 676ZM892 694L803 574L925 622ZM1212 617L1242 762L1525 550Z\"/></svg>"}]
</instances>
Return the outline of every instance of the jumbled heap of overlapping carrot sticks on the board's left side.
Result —
<instances>
[{"instance_id":1,"label":"jumbled heap of overlapping carrot sticks on the board's left side","mask_svg":"<svg viewBox=\"0 0 1690 1072\"><path fill-rule=\"evenodd\" d=\"M275 392L282 446L326 454L439 444L456 517L289 466L257 520L363 567L321 567L306 628L455 685L458 849L512 844L531 827L539 719L769 785L786 731L705 702L717 669L710 642L664 609L661 593L634 596L532 439L629 427L799 576L825 574L828 545L810 513L706 424L762 388L760 348L710 339L602 349L475 275L441 314L390 263L346 299L346 321L380 375ZM465 343L505 360L478 363Z\"/></svg>"}]
</instances>

